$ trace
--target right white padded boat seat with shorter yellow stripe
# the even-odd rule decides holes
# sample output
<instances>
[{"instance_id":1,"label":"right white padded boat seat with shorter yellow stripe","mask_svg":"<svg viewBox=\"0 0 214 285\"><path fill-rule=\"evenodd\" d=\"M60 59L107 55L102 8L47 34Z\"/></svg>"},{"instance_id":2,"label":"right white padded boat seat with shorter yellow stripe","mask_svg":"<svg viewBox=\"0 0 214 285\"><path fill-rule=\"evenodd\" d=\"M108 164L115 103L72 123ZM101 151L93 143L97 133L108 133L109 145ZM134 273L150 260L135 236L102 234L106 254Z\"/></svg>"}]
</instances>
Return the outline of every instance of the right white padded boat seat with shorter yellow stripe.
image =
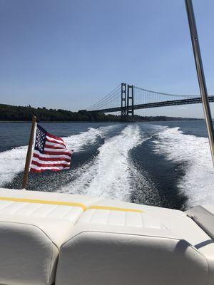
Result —
<instances>
[{"instance_id":1,"label":"right white padded boat seat with shorter yellow stripe","mask_svg":"<svg viewBox=\"0 0 214 285\"><path fill-rule=\"evenodd\" d=\"M213 241L184 212L104 199L61 246L56 285L213 285L212 257Z\"/></svg>"}]
</instances>

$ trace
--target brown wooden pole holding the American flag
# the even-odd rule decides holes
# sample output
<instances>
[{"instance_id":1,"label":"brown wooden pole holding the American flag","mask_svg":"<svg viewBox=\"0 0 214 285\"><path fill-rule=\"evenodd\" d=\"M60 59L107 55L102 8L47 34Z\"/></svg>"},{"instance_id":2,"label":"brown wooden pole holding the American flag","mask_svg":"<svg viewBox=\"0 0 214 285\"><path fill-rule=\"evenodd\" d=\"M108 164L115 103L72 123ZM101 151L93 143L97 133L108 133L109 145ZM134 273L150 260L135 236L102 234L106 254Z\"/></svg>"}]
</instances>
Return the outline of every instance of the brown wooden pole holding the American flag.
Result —
<instances>
[{"instance_id":1,"label":"brown wooden pole holding the American flag","mask_svg":"<svg viewBox=\"0 0 214 285\"><path fill-rule=\"evenodd\" d=\"M32 155L32 146L34 143L34 130L36 126L36 117L33 116L32 118L32 125L31 125L31 135L29 138L29 147L26 155L26 162L24 167L24 175L23 175L23 181L22 181L22 189L26 189L26 185L29 179L29 168L31 163L31 155Z\"/></svg>"}]
</instances>

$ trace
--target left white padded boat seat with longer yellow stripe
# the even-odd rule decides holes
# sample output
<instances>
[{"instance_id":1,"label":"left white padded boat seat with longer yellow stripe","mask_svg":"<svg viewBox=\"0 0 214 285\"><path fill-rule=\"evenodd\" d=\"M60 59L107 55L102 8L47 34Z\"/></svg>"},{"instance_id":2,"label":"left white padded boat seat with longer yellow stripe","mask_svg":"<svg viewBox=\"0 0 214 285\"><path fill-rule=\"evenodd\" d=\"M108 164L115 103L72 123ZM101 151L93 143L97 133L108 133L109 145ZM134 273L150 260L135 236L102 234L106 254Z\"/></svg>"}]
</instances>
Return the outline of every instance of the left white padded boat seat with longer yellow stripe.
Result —
<instances>
[{"instance_id":1,"label":"left white padded boat seat with longer yellow stripe","mask_svg":"<svg viewBox=\"0 0 214 285\"><path fill-rule=\"evenodd\" d=\"M97 198L0 189L0 284L54 284L58 251Z\"/></svg>"}]
</instances>

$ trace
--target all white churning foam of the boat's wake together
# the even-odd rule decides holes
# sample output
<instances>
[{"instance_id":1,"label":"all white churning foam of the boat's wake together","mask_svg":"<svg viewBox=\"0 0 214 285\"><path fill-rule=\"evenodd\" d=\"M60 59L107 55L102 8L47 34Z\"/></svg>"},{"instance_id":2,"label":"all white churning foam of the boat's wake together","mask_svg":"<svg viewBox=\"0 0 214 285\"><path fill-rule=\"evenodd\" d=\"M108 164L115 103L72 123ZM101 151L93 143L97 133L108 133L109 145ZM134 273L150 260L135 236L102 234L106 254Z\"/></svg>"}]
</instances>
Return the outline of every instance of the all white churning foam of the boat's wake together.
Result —
<instances>
[{"instance_id":1,"label":"all white churning foam of the boat's wake together","mask_svg":"<svg viewBox=\"0 0 214 285\"><path fill-rule=\"evenodd\" d=\"M153 177L150 179L144 170L138 171L129 155L134 147L151 139L152 135L157 135L153 141L153 151L163 154L171 162L183 165L185 175L180 177L178 187L188 196L189 207L214 203L213 165L207 138L185 135L179 128L156 125L153 125L152 132L147 133L147 136L144 128L138 124L122 127L122 130L120 125L88 128L86 132L64 138L67 147L75 152L84 152L88 146L96 144L98 138L104 141L102 145L97 145L96 156L92 155L91 160L66 173L66 177L70 175L71 181L68 179L68 184L61 189L59 186L58 191L129 201L135 190L133 188L140 185L151 192L150 196L154 194L158 197ZM109 137L110 133L112 137ZM25 157L26 146L0 152L0 187L24 170Z\"/></svg>"}]
</instances>

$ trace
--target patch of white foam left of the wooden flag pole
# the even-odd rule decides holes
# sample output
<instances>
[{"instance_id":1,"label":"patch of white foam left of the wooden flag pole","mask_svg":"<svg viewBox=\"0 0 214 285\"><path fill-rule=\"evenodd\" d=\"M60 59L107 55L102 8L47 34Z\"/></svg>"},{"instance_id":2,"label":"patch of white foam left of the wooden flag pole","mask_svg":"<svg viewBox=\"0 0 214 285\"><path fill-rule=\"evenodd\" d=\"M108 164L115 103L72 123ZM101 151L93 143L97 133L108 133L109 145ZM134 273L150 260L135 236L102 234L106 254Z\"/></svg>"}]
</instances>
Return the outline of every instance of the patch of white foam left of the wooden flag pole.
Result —
<instances>
[{"instance_id":1,"label":"patch of white foam left of the wooden flag pole","mask_svg":"<svg viewBox=\"0 0 214 285\"><path fill-rule=\"evenodd\" d=\"M0 152L0 186L11 182L17 173L24 170L27 147L16 147Z\"/></svg>"}]
</instances>

